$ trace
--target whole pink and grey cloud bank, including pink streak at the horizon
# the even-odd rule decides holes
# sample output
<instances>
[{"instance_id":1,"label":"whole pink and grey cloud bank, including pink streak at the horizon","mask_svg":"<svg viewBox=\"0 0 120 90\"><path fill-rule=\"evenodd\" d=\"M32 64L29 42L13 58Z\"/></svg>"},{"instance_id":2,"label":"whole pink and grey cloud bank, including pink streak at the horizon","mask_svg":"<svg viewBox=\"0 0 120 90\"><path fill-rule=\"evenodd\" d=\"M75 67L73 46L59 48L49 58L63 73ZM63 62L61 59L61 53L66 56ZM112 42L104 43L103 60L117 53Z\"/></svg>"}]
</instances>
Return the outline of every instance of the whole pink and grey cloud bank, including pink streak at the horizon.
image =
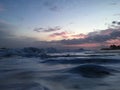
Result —
<instances>
[{"instance_id":1,"label":"whole pink and grey cloud bank, including pink streak at the horizon","mask_svg":"<svg viewBox=\"0 0 120 90\"><path fill-rule=\"evenodd\" d=\"M112 44L120 45L120 22L117 27L93 31L88 34L75 34L66 31L49 35L51 40L70 48L103 48Z\"/></svg>"}]
</instances>

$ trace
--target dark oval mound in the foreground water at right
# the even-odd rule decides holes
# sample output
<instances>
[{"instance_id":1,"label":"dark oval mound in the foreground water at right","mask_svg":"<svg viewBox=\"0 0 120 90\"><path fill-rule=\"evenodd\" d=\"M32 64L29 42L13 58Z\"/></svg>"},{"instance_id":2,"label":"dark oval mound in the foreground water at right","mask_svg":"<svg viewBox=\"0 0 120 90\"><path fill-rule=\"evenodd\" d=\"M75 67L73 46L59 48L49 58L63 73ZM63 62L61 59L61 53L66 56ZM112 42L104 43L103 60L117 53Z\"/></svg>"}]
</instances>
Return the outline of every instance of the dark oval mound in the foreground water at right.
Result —
<instances>
[{"instance_id":1,"label":"dark oval mound in the foreground water at right","mask_svg":"<svg viewBox=\"0 0 120 90\"><path fill-rule=\"evenodd\" d=\"M70 70L72 73L77 73L82 75L83 77L88 78L101 78L112 74L113 69L109 69L104 66L96 65L96 64L85 64L75 67Z\"/></svg>"}]
</instances>

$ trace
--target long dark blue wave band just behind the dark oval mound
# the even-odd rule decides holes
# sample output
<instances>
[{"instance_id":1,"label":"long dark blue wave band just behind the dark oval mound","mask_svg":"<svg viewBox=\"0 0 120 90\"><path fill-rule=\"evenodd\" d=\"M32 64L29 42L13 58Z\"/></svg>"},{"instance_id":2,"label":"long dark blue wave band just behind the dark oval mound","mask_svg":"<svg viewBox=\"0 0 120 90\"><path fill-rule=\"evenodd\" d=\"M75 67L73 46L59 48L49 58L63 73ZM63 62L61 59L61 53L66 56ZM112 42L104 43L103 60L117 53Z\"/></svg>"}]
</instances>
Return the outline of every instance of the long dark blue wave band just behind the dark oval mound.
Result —
<instances>
[{"instance_id":1,"label":"long dark blue wave band just behind the dark oval mound","mask_svg":"<svg viewBox=\"0 0 120 90\"><path fill-rule=\"evenodd\" d=\"M101 63L101 64L110 64L110 63L120 63L118 59L105 59L105 58L74 58L74 59L47 59L41 61L40 63L46 64L86 64L86 63Z\"/></svg>"}]
</instances>

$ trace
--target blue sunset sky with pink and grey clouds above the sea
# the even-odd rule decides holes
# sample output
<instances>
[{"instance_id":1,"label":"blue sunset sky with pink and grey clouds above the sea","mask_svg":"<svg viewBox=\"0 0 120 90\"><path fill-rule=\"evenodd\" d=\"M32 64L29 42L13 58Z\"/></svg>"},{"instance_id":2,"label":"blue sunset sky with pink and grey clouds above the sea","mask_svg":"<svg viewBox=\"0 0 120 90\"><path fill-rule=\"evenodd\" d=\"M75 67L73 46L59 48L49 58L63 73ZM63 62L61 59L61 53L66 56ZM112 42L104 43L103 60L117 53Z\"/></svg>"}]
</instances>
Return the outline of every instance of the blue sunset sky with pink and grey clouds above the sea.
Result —
<instances>
[{"instance_id":1,"label":"blue sunset sky with pink and grey clouds above the sea","mask_svg":"<svg viewBox=\"0 0 120 90\"><path fill-rule=\"evenodd\" d=\"M0 47L119 45L119 21L120 0L0 0Z\"/></svg>"}]
</instances>

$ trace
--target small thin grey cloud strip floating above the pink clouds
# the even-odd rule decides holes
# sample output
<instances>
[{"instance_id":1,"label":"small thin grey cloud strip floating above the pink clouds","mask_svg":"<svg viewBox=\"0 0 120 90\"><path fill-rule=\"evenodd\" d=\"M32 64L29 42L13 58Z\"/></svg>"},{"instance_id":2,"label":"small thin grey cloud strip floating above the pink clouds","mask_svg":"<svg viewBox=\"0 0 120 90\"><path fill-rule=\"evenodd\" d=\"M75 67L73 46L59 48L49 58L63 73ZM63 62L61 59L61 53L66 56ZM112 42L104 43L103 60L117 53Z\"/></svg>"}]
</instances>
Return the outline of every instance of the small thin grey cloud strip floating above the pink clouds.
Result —
<instances>
[{"instance_id":1,"label":"small thin grey cloud strip floating above the pink clouds","mask_svg":"<svg viewBox=\"0 0 120 90\"><path fill-rule=\"evenodd\" d=\"M55 26L53 28L35 28L33 31L36 31L36 32L54 32L54 31L59 31L61 30L61 27L60 26Z\"/></svg>"}]
</instances>

